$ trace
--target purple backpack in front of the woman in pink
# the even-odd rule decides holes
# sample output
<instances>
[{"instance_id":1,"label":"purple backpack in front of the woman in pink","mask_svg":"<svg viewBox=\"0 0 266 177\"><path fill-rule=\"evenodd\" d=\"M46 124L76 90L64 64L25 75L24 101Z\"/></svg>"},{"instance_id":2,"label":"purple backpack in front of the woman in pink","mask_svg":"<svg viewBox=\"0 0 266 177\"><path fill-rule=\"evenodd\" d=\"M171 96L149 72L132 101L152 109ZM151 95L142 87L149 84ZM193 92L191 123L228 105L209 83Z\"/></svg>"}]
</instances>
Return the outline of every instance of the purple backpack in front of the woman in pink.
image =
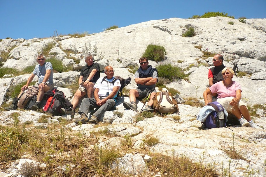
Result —
<instances>
[{"instance_id":1,"label":"purple backpack in front of the woman in pink","mask_svg":"<svg viewBox=\"0 0 266 177\"><path fill-rule=\"evenodd\" d=\"M214 101L208 103L207 106L212 106L216 111L212 111L205 120L205 126L207 128L226 127L225 116L223 112L223 106Z\"/></svg>"}]
</instances>

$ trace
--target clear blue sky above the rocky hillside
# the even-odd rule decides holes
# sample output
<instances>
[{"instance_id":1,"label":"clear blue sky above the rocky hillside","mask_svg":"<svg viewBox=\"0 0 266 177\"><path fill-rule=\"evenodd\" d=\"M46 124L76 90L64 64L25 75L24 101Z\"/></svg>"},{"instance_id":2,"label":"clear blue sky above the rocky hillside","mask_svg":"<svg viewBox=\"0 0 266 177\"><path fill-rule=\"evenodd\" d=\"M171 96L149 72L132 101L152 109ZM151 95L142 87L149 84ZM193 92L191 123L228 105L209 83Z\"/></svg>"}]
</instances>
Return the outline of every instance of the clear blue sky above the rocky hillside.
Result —
<instances>
[{"instance_id":1,"label":"clear blue sky above the rocky hillside","mask_svg":"<svg viewBox=\"0 0 266 177\"><path fill-rule=\"evenodd\" d=\"M99 33L104 28L165 18L225 12L235 18L266 18L266 0L0 0L0 39Z\"/></svg>"}]
</instances>

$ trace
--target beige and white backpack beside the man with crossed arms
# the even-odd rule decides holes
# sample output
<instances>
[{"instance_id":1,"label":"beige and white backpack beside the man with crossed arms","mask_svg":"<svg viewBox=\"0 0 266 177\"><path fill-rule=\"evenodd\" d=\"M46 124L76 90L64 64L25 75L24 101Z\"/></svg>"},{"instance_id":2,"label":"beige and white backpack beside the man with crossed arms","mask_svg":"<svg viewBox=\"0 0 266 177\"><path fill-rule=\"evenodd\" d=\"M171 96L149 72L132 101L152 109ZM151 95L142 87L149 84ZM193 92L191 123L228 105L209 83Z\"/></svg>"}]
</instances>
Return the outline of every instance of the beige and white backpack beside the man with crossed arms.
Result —
<instances>
[{"instance_id":1,"label":"beige and white backpack beside the man with crossed arms","mask_svg":"<svg viewBox=\"0 0 266 177\"><path fill-rule=\"evenodd\" d=\"M153 97L154 111L160 113L179 112L177 101L172 97L171 93L167 91L157 92Z\"/></svg>"}]
</instances>

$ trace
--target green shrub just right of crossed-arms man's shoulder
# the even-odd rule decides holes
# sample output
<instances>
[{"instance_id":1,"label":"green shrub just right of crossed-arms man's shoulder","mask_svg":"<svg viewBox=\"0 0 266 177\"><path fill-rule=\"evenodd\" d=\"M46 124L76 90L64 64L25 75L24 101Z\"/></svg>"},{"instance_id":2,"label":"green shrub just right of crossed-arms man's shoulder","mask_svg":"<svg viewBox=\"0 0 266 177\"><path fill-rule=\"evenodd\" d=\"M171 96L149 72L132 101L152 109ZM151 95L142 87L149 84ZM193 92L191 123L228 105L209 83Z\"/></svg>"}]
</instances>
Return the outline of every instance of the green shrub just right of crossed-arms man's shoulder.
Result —
<instances>
[{"instance_id":1,"label":"green shrub just right of crossed-arms man's shoulder","mask_svg":"<svg viewBox=\"0 0 266 177\"><path fill-rule=\"evenodd\" d=\"M178 66L173 66L170 63L163 63L156 66L158 70L158 76L174 81L176 79L185 79L186 75L182 69Z\"/></svg>"}]
</instances>

